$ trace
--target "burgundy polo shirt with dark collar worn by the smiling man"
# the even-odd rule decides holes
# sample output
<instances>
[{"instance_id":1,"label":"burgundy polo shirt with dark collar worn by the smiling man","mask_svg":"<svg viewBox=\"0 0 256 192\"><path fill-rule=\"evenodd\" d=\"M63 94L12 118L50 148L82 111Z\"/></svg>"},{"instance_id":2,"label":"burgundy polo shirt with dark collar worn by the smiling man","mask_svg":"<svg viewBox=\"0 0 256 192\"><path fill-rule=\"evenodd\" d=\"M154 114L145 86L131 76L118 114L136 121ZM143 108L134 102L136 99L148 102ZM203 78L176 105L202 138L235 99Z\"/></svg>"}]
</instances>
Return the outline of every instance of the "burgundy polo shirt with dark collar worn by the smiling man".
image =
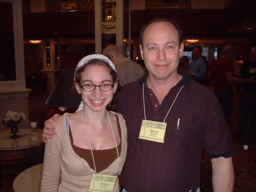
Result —
<instances>
[{"instance_id":1,"label":"burgundy polo shirt with dark collar worn by the smiling man","mask_svg":"<svg viewBox=\"0 0 256 192\"><path fill-rule=\"evenodd\" d=\"M174 98L184 85L166 118L164 143L139 139L144 119L144 78L127 84L117 97L118 112L126 120L128 149L121 178L128 192L188 192L200 183L200 157L205 145L209 158L230 157L234 146L220 104L214 93L186 73L156 111L145 87L147 120L163 122ZM181 118L177 129L178 118Z\"/></svg>"}]
</instances>

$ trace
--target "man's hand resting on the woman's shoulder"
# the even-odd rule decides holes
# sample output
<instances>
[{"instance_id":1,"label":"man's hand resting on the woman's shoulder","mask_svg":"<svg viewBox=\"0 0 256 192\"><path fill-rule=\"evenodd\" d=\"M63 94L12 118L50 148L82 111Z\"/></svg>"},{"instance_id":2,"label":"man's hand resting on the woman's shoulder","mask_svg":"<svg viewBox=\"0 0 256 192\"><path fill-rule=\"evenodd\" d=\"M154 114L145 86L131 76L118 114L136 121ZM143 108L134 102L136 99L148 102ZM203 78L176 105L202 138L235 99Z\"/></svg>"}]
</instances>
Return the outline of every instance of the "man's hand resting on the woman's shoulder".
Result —
<instances>
[{"instance_id":1,"label":"man's hand resting on the woman's shoulder","mask_svg":"<svg viewBox=\"0 0 256 192\"><path fill-rule=\"evenodd\" d=\"M53 136L57 134L57 132L54 131L56 127L51 123L53 120L58 120L59 117L60 117L60 114L55 114L53 117L51 117L50 119L44 122L44 133L42 135L43 137L42 140L44 143L48 143L47 139L52 139Z\"/></svg>"}]
</instances>

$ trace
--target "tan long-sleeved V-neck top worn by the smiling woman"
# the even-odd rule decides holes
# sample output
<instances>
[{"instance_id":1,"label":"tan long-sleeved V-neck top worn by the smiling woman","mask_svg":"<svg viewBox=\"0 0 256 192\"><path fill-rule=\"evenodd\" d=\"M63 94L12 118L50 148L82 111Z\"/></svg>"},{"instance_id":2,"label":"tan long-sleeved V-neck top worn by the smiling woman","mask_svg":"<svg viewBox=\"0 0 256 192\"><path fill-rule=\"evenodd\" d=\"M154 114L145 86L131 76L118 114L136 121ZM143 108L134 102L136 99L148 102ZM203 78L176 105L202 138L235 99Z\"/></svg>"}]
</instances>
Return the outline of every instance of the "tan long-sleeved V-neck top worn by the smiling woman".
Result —
<instances>
[{"instance_id":1,"label":"tan long-sleeved V-neck top worn by the smiling woman","mask_svg":"<svg viewBox=\"0 0 256 192\"><path fill-rule=\"evenodd\" d=\"M122 151L118 158L99 174L103 172L114 173L118 166L117 173L120 175L127 149L127 130L125 120L121 114L118 115L121 127ZM85 192L94 170L90 168L86 160L80 158L73 150L70 138L66 132L66 116L68 113L60 116L54 121L57 134L53 139L48 140L44 152L44 171L41 182L41 192ZM60 182L61 178L61 182ZM114 187L114 192L119 191L118 180Z\"/></svg>"}]
</instances>

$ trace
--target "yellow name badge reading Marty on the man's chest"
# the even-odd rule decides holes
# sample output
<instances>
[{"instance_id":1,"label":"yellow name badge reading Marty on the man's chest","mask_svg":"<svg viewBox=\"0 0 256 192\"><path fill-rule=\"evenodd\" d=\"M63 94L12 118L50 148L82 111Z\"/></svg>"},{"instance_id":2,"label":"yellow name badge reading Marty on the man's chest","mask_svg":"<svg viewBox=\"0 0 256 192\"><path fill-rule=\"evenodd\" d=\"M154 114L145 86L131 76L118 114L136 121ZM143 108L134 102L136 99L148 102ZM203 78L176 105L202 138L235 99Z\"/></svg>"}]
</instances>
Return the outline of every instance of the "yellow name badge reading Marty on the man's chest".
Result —
<instances>
[{"instance_id":1,"label":"yellow name badge reading Marty on the man's chest","mask_svg":"<svg viewBox=\"0 0 256 192\"><path fill-rule=\"evenodd\" d=\"M140 139L163 143L167 123L143 120L140 128Z\"/></svg>"}]
</instances>

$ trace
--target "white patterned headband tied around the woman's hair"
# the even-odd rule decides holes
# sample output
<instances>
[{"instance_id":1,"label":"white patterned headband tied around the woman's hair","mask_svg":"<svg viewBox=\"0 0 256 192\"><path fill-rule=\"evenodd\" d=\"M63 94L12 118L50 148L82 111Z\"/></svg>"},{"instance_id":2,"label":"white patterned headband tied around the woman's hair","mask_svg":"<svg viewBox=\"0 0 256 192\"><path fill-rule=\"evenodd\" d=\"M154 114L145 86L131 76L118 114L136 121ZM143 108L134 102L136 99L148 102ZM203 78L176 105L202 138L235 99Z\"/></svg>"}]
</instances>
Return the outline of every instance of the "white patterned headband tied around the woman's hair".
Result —
<instances>
[{"instance_id":1,"label":"white patterned headband tied around the woman's hair","mask_svg":"<svg viewBox=\"0 0 256 192\"><path fill-rule=\"evenodd\" d=\"M102 60L102 61L106 62L116 72L116 68L115 68L113 62L108 57L101 55L101 54L92 54L92 55L88 55L88 56L82 58L80 60L80 62L77 64L75 74L74 74L74 81L76 81L75 76L76 76L77 70L80 69L82 66L84 66L86 63L88 63L90 60L93 60L93 59L98 59L98 60ZM83 108L84 108L84 102L81 101L76 112L82 110Z\"/></svg>"}]
</instances>

